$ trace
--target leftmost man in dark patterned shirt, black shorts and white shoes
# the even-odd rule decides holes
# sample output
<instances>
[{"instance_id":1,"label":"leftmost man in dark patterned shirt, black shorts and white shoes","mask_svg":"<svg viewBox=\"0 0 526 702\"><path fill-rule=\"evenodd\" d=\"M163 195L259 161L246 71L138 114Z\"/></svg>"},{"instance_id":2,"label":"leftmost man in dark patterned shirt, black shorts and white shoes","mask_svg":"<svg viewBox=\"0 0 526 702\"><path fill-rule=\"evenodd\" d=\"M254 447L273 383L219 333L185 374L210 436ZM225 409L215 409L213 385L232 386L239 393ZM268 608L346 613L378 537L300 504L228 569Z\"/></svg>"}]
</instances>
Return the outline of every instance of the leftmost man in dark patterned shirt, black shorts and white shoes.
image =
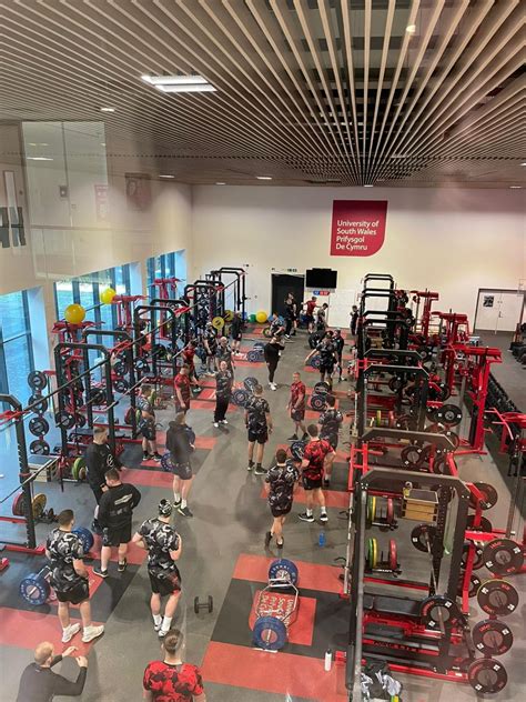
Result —
<instances>
[{"instance_id":1,"label":"leftmost man in dark patterned shirt, black shorts and white shoes","mask_svg":"<svg viewBox=\"0 0 526 702\"><path fill-rule=\"evenodd\" d=\"M91 621L90 586L84 565L84 551L77 534L72 533L74 514L62 510L59 525L49 534L45 555L51 566L51 585L59 601L59 620L62 624L62 643L68 643L80 631L80 624L70 621L70 604L79 604L82 620L82 641L88 643L104 631Z\"/></svg>"}]
</instances>

